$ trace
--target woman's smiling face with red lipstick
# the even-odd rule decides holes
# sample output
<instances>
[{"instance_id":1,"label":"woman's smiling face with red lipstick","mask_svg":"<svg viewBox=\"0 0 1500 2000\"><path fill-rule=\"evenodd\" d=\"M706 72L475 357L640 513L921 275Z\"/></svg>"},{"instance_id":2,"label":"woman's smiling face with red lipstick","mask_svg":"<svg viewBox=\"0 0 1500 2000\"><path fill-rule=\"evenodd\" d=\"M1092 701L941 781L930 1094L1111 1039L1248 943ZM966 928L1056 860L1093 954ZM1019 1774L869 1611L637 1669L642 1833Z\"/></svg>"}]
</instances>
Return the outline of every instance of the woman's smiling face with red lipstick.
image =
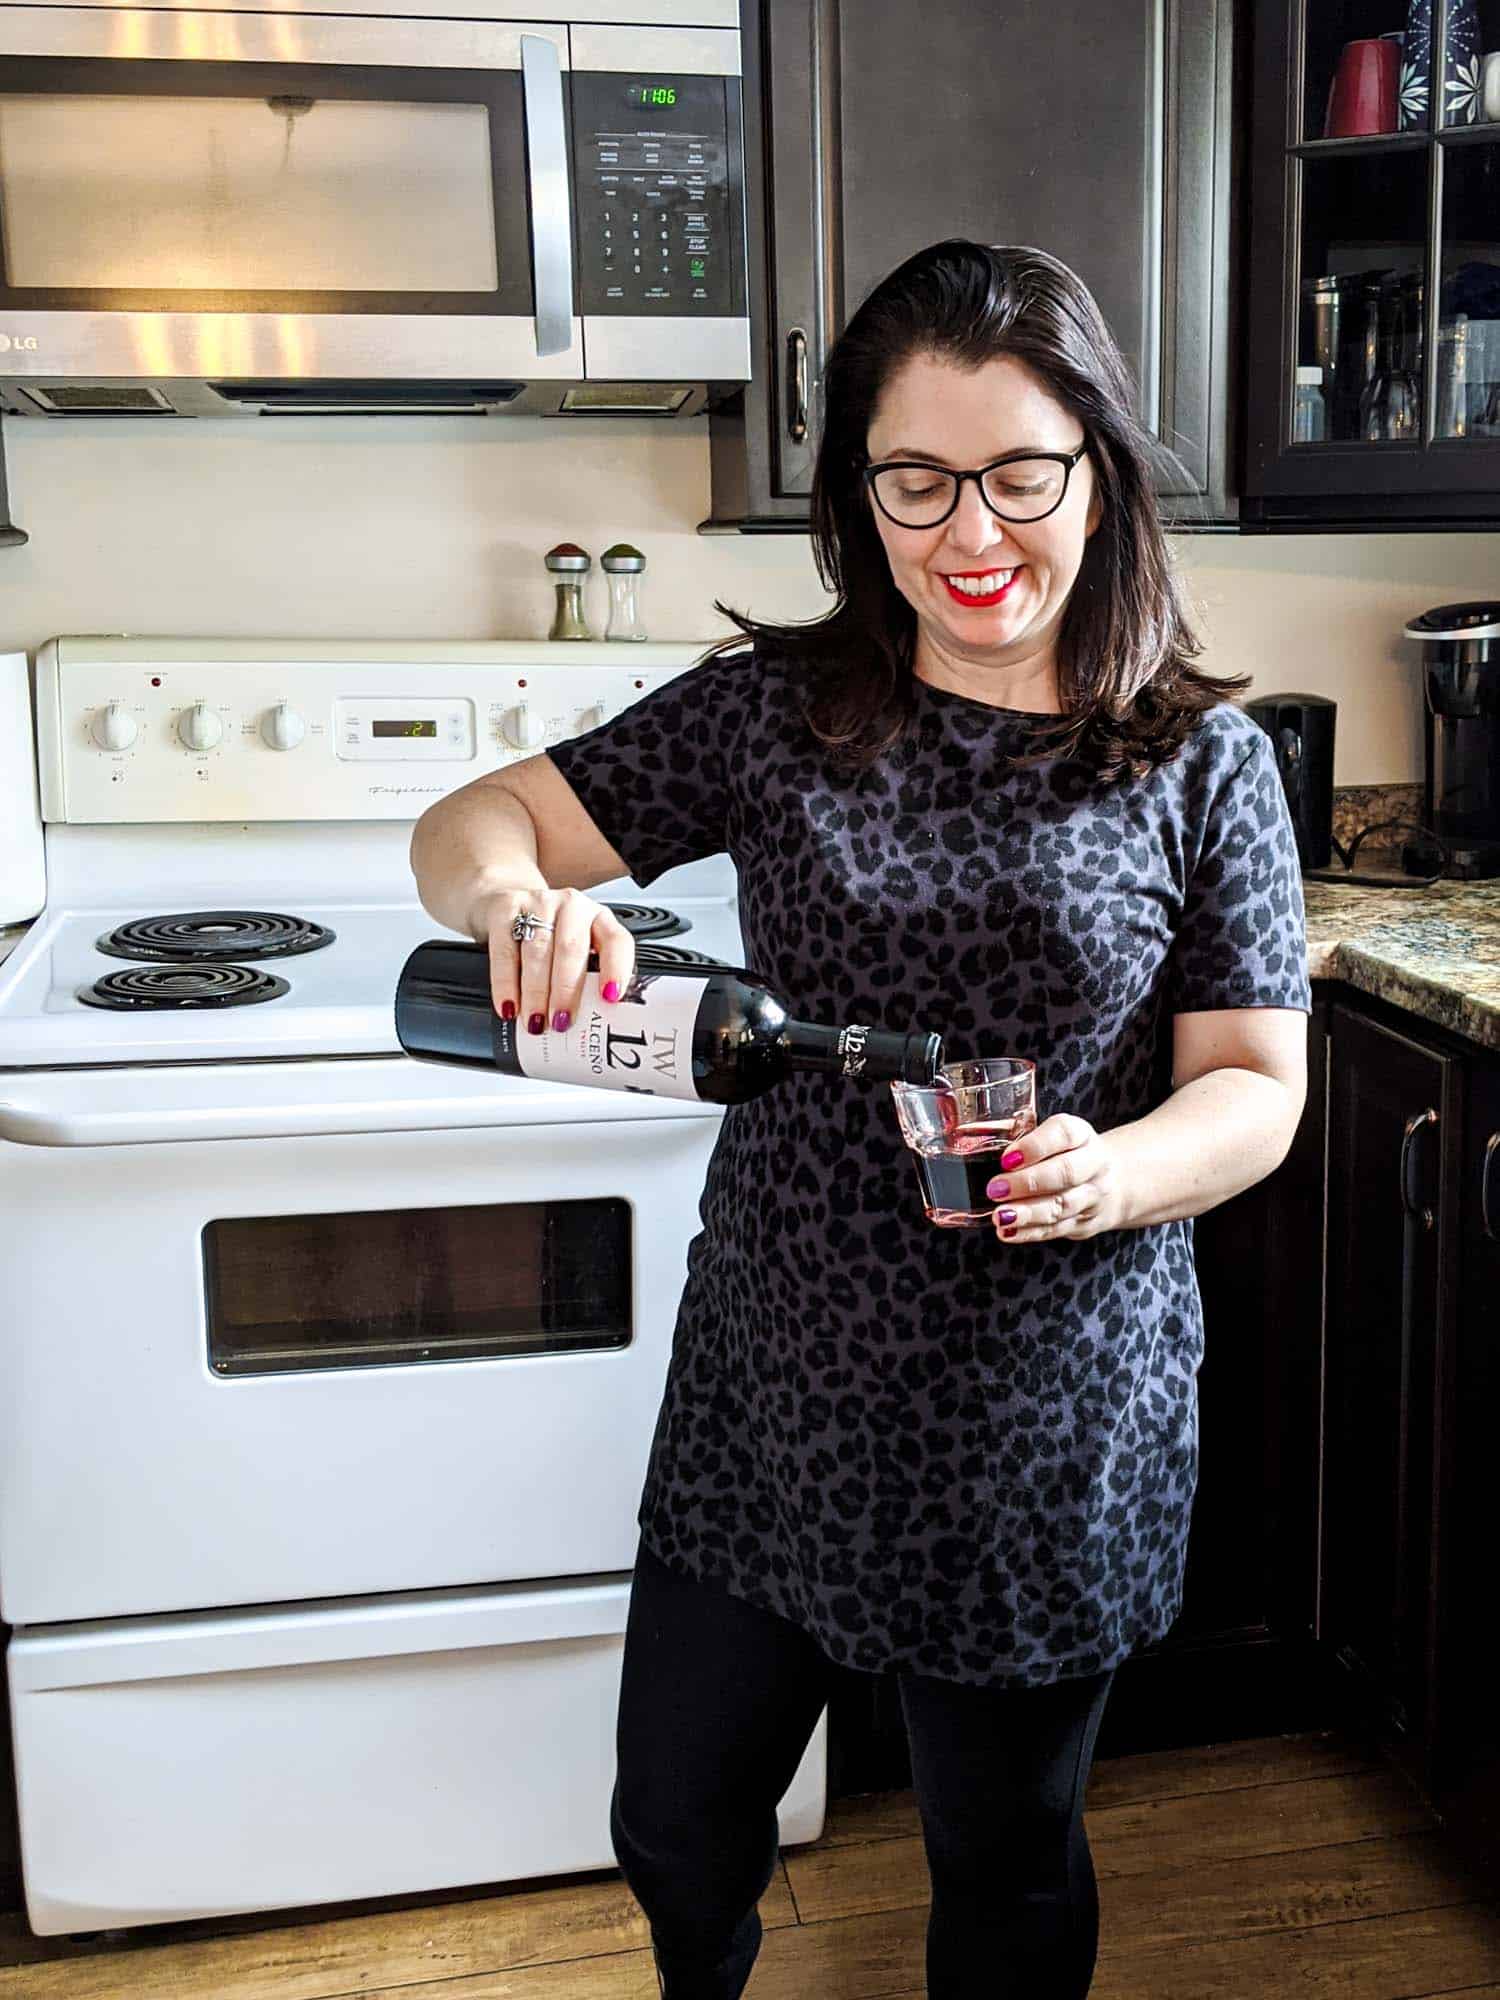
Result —
<instances>
[{"instance_id":1,"label":"woman's smiling face with red lipstick","mask_svg":"<svg viewBox=\"0 0 1500 2000\"><path fill-rule=\"evenodd\" d=\"M1082 442L1084 426L1024 362L1002 356L958 368L916 354L886 384L866 450L872 464L920 458L962 472L1010 452L1074 452ZM1098 526L1088 458L1072 468L1062 506L1046 520L1000 520L974 480L960 486L958 506L936 528L902 528L874 498L870 508L892 580L916 612L924 678L932 678L934 656L960 674L1024 668L1028 682L1044 660L1054 666L1062 612Z\"/></svg>"}]
</instances>

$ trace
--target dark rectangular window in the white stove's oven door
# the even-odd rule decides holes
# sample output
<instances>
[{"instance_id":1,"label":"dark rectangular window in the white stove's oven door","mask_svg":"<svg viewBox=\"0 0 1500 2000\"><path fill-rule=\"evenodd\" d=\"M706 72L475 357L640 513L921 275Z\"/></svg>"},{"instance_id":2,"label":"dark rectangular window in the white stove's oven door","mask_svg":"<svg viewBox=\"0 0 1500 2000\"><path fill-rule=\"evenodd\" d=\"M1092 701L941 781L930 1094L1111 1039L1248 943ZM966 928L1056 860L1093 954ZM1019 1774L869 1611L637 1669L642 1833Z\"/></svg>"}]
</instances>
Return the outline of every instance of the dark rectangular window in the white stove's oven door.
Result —
<instances>
[{"instance_id":1,"label":"dark rectangular window in the white stove's oven door","mask_svg":"<svg viewBox=\"0 0 1500 2000\"><path fill-rule=\"evenodd\" d=\"M630 1204L496 1202L204 1228L218 1376L630 1344Z\"/></svg>"}]
</instances>

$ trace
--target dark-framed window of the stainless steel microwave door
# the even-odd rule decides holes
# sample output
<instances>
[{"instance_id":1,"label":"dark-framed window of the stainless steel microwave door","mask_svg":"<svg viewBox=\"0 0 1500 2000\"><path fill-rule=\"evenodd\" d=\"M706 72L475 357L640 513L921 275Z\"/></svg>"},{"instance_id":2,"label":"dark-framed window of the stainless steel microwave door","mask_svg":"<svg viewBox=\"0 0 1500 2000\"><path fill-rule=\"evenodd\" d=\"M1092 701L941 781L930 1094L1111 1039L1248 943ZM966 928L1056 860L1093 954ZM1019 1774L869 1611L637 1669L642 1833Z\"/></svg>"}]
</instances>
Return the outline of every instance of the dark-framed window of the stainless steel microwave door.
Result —
<instances>
[{"instance_id":1,"label":"dark-framed window of the stainless steel microwave door","mask_svg":"<svg viewBox=\"0 0 1500 2000\"><path fill-rule=\"evenodd\" d=\"M64 76L32 58L4 74L2 306L532 310L520 72L112 60ZM228 348L218 366L234 372Z\"/></svg>"}]
</instances>

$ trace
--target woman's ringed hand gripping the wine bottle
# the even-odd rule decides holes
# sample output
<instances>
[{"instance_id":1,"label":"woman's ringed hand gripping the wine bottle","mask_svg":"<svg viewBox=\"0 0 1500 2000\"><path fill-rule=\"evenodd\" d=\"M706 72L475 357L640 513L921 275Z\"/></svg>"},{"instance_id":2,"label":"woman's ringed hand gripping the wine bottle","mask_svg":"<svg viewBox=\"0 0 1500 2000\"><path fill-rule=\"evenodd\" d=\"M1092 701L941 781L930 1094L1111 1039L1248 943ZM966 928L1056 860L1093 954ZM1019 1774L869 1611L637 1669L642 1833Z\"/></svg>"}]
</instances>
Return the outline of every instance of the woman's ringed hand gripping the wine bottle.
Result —
<instances>
[{"instance_id":1,"label":"woman's ringed hand gripping the wine bottle","mask_svg":"<svg viewBox=\"0 0 1500 2000\"><path fill-rule=\"evenodd\" d=\"M552 928L518 944L512 924L524 912ZM636 968L636 940L620 918L576 888L490 888L470 910L468 928L476 944L490 946L496 1014L520 1016L528 1034L562 1032L572 1022L590 952L598 952L606 1002L624 994Z\"/></svg>"}]
</instances>

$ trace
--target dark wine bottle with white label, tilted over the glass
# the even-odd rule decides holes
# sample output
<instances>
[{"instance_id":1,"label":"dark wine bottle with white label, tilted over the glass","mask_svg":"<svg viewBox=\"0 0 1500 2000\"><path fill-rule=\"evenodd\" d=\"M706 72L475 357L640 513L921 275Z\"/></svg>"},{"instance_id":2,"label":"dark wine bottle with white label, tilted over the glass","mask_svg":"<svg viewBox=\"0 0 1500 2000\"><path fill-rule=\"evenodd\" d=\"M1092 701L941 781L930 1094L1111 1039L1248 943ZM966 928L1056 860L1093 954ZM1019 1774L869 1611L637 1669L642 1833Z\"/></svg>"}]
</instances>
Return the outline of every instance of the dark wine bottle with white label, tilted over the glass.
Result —
<instances>
[{"instance_id":1,"label":"dark wine bottle with white label, tilted over the glass","mask_svg":"<svg viewBox=\"0 0 1500 2000\"><path fill-rule=\"evenodd\" d=\"M936 1034L792 1020L754 972L658 970L644 946L618 1000L600 998L590 954L568 1028L528 1034L524 1022L494 1012L486 948L434 938L402 966L396 1036L408 1056L434 1062L706 1104L742 1104L800 1070L930 1084L942 1064Z\"/></svg>"}]
</instances>

